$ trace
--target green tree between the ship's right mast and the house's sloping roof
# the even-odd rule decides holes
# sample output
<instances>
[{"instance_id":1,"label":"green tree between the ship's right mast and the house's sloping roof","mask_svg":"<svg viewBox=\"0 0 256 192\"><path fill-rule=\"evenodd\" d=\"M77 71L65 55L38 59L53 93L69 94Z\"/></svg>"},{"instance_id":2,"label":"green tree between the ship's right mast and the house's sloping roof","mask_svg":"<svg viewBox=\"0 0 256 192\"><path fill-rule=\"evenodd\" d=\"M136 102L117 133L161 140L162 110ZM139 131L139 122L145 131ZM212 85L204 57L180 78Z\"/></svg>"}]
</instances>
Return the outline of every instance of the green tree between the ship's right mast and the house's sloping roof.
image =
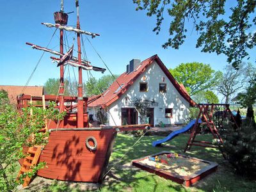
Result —
<instances>
[{"instance_id":1,"label":"green tree between the ship's right mast and the house's sloping roof","mask_svg":"<svg viewBox=\"0 0 256 192\"><path fill-rule=\"evenodd\" d=\"M99 80L97 80L95 77L90 77L84 84L86 96L98 95L106 91L116 80L118 75L114 75L114 77L111 75L106 75L100 77Z\"/></svg>"}]
</instances>

